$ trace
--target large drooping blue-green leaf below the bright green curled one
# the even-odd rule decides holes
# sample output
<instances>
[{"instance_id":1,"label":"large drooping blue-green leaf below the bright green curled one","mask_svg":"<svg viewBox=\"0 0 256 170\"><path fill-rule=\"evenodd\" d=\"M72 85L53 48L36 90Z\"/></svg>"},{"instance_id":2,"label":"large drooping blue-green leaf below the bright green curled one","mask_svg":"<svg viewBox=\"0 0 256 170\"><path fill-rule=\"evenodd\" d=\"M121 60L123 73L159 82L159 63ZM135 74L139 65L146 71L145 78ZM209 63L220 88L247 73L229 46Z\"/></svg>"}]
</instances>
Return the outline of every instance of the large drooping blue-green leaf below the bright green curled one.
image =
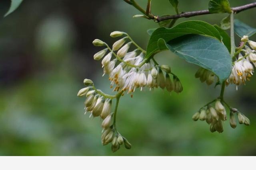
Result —
<instances>
[{"instance_id":1,"label":"large drooping blue-green leaf below the bright green curled one","mask_svg":"<svg viewBox=\"0 0 256 170\"><path fill-rule=\"evenodd\" d=\"M202 35L185 35L169 41L167 47L188 63L212 71L220 82L230 75L232 69L230 53L217 39Z\"/></svg>"}]
</instances>

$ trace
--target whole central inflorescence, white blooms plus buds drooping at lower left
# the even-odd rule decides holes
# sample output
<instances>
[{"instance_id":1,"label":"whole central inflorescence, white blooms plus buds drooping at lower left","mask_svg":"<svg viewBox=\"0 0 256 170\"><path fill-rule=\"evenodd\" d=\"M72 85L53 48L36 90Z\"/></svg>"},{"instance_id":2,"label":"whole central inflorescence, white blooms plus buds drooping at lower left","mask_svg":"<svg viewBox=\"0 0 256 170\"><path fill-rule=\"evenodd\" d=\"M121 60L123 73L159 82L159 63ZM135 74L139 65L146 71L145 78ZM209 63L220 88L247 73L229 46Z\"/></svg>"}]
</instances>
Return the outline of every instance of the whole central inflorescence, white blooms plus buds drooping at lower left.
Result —
<instances>
[{"instance_id":1,"label":"whole central inflorescence, white blooms plus buds drooping at lower left","mask_svg":"<svg viewBox=\"0 0 256 170\"><path fill-rule=\"evenodd\" d=\"M139 47L131 37L124 32L114 31L111 37L121 37L112 48L100 39L93 41L94 46L106 47L94 55L94 59L102 59L103 76L108 75L110 88L116 95L108 95L101 90L97 90L91 80L85 79L84 84L88 87L82 88L78 96L86 97L84 102L85 111L90 112L90 117L100 117L102 121L102 145L111 143L112 152L116 152L120 145L124 144L126 149L131 148L131 144L116 129L116 113L119 99L124 92L131 94L136 88L166 88L168 92L180 93L183 90L179 78L172 73L170 66L158 65L151 57L145 59L146 51ZM136 49L129 51L131 45ZM172 77L172 78L171 78ZM111 112L112 100L116 99L114 112ZM85 112L85 113L86 113Z\"/></svg>"}]
</instances>

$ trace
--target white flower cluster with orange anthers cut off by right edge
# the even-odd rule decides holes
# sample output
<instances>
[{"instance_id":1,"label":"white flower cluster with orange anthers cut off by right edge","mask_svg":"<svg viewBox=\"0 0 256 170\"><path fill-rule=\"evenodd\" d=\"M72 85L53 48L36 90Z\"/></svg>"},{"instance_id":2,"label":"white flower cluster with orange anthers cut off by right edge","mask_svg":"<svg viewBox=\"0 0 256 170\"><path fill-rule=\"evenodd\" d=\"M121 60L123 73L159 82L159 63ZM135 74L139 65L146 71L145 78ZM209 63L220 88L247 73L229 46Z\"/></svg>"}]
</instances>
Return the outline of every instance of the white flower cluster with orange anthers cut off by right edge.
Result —
<instances>
[{"instance_id":1,"label":"white flower cluster with orange anthers cut off by right edge","mask_svg":"<svg viewBox=\"0 0 256 170\"><path fill-rule=\"evenodd\" d=\"M248 43L250 47L246 45ZM236 84L236 89L240 84L245 84L246 80L250 80L253 75L254 66L256 66L256 42L250 41L248 36L241 39L240 47L238 47L238 58L233 63L232 72L226 80L226 85Z\"/></svg>"}]
</instances>

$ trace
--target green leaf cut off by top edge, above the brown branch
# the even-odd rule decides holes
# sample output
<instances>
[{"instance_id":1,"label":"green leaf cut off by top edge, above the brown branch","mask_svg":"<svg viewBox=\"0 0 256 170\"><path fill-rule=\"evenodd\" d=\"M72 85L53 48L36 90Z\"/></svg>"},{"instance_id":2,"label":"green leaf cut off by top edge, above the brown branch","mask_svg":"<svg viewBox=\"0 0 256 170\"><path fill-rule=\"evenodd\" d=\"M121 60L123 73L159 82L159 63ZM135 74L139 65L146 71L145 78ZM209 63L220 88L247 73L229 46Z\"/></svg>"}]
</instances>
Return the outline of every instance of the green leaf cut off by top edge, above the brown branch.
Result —
<instances>
[{"instance_id":1,"label":"green leaf cut off by top edge, above the brown branch","mask_svg":"<svg viewBox=\"0 0 256 170\"><path fill-rule=\"evenodd\" d=\"M210 0L209 2L210 13L231 13L228 0Z\"/></svg>"}]
</instances>

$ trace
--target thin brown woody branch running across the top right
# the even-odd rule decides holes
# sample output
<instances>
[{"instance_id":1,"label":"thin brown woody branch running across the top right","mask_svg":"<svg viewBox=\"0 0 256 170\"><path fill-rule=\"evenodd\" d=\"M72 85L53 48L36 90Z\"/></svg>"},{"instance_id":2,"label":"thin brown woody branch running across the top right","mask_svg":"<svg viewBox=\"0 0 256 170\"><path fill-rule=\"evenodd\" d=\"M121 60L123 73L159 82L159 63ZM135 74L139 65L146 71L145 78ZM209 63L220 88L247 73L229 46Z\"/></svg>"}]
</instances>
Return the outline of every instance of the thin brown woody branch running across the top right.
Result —
<instances>
[{"instance_id":1,"label":"thin brown woody branch running across the top right","mask_svg":"<svg viewBox=\"0 0 256 170\"><path fill-rule=\"evenodd\" d=\"M241 11L248 10L250 8L255 8L255 7L256 7L256 2L253 2L251 4L246 4L246 5L234 7L231 9L234 12L234 14L237 14ZM206 14L211 14L211 13L209 12L209 10L184 12L184 13L172 15L172 16L170 15L170 16L158 17L156 19L156 21L160 22L160 21L164 21L164 20L177 19L177 18L189 18L192 16L200 16L200 15L206 15Z\"/></svg>"}]
</instances>

